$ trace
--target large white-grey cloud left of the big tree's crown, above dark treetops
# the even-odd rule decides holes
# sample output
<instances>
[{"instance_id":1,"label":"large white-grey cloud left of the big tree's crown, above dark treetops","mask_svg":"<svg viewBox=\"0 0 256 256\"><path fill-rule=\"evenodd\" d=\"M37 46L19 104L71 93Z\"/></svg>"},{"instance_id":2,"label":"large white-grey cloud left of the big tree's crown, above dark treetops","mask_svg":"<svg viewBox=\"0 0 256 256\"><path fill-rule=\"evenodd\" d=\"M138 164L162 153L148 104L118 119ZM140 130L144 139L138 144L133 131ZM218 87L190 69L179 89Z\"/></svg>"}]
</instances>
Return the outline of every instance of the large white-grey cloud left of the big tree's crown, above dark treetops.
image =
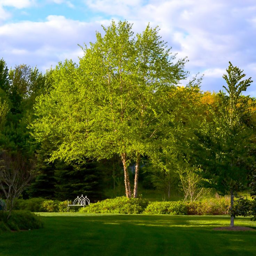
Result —
<instances>
[{"instance_id":1,"label":"large white-grey cloud left of the big tree's crown, above dark treetops","mask_svg":"<svg viewBox=\"0 0 256 256\"><path fill-rule=\"evenodd\" d=\"M0 56L8 67L21 63L38 66L45 72L65 58L78 62L83 51L78 44L95 40L98 23L48 16L45 22L25 21L0 26Z\"/></svg>"}]
</instances>

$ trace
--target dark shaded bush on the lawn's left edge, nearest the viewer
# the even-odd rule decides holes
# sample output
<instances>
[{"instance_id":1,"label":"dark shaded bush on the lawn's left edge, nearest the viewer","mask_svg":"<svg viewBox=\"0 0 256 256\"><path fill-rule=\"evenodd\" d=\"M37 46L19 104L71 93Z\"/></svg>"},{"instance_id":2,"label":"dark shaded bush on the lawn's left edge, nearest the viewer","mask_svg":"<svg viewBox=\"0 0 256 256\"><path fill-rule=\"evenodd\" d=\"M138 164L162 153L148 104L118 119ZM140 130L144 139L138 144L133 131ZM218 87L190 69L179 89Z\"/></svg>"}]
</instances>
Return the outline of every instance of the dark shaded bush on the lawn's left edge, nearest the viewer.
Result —
<instances>
[{"instance_id":1,"label":"dark shaded bush on the lawn's left edge, nearest the viewer","mask_svg":"<svg viewBox=\"0 0 256 256\"><path fill-rule=\"evenodd\" d=\"M0 231L8 230L29 230L29 229L39 229L43 227L43 222L40 218L29 212L29 211L12 211L9 219L7 211L2 211L0 213Z\"/></svg>"}]
</instances>

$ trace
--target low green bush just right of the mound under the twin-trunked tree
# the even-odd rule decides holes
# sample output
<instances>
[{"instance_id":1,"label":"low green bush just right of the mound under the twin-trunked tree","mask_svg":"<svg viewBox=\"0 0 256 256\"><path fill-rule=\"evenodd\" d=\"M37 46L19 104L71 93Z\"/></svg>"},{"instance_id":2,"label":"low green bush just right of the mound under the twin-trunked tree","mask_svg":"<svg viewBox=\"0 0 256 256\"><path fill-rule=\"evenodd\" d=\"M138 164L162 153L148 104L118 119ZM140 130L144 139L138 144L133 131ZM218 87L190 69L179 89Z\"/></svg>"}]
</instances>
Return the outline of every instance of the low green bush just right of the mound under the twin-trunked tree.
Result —
<instances>
[{"instance_id":1,"label":"low green bush just right of the mound under the twin-trunked tree","mask_svg":"<svg viewBox=\"0 0 256 256\"><path fill-rule=\"evenodd\" d=\"M151 202L144 210L144 214L171 214L184 215L186 214L186 205L182 201L176 202Z\"/></svg>"}]
</instances>

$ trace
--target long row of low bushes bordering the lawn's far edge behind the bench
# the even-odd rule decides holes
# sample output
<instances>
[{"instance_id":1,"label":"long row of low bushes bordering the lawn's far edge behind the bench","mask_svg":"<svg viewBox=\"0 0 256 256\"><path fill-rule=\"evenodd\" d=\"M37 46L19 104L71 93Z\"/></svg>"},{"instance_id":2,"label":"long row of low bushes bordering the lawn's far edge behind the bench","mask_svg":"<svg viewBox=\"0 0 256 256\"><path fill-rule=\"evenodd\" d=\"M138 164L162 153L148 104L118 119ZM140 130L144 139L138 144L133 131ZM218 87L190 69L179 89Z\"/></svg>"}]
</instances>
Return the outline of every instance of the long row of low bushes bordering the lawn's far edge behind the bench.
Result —
<instances>
[{"instance_id":1,"label":"long row of low bushes bordering the lawn's far edge behind the bench","mask_svg":"<svg viewBox=\"0 0 256 256\"><path fill-rule=\"evenodd\" d=\"M67 201L42 198L19 199L15 203L15 209L33 212L65 212L67 211ZM85 209L83 207L71 207L70 211L119 214L223 215L229 212L229 199L207 199L197 202L149 202L142 198L117 197L91 203Z\"/></svg>"}]
</instances>

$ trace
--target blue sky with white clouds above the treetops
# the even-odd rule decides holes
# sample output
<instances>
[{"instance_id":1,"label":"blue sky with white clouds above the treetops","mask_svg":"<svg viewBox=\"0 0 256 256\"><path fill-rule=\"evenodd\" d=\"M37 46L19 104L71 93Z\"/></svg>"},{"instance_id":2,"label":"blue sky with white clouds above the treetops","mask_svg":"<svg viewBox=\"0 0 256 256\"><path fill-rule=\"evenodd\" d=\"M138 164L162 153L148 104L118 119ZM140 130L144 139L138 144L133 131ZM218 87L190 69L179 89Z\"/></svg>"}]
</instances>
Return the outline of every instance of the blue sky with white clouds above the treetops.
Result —
<instances>
[{"instance_id":1,"label":"blue sky with white clouds above the treetops","mask_svg":"<svg viewBox=\"0 0 256 256\"><path fill-rule=\"evenodd\" d=\"M159 26L177 59L189 60L182 85L199 73L203 91L222 90L230 61L252 77L244 94L256 97L255 0L0 0L0 58L9 69L27 64L42 73L65 59L78 63L78 44L95 42L112 19L135 33Z\"/></svg>"}]
</instances>

